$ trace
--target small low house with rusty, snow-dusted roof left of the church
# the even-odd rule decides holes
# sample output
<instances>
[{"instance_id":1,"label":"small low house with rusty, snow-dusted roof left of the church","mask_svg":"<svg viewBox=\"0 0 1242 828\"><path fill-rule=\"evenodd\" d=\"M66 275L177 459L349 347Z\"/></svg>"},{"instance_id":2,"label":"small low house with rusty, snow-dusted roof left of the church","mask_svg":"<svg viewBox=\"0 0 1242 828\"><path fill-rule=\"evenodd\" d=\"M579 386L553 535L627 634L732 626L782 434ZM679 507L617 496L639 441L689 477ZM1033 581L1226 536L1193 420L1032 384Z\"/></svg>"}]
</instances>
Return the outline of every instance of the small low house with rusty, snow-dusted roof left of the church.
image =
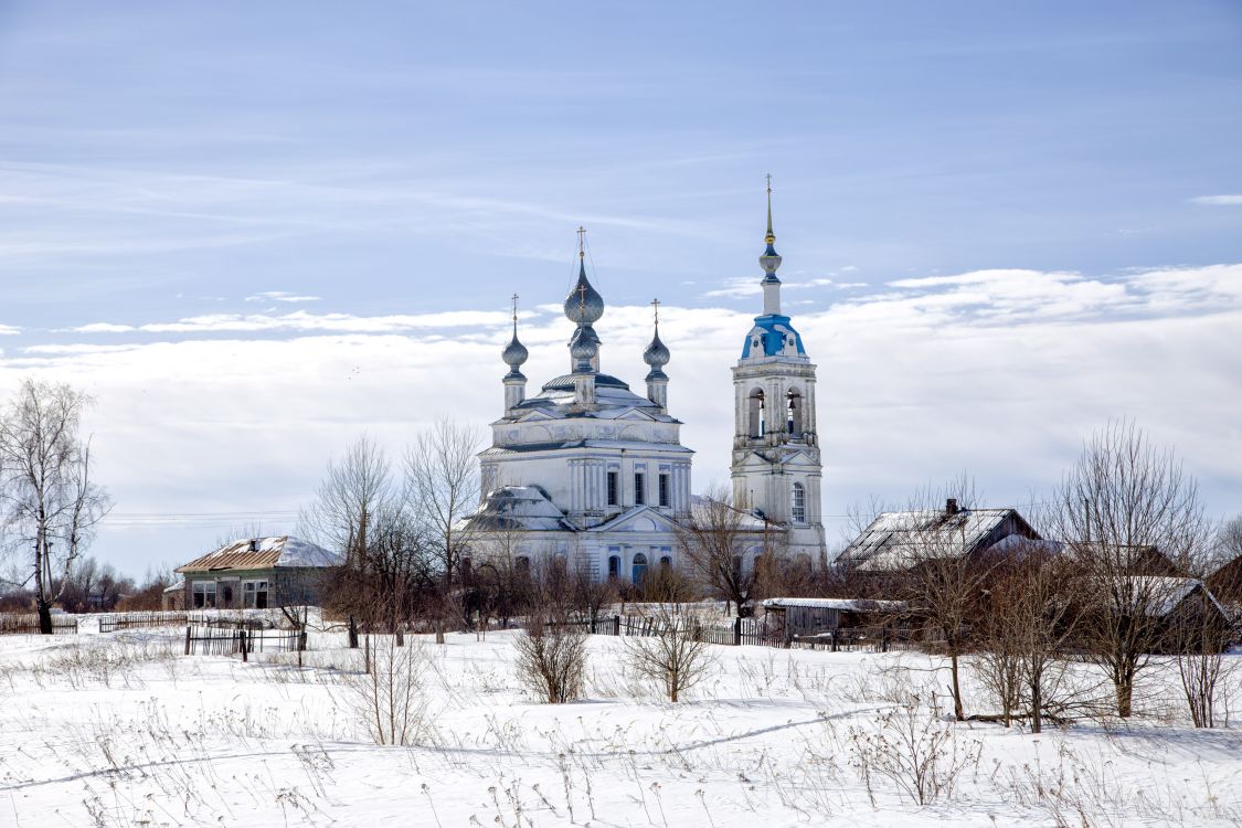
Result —
<instances>
[{"instance_id":1,"label":"small low house with rusty, snow-dusted roof left of the church","mask_svg":"<svg viewBox=\"0 0 1242 828\"><path fill-rule=\"evenodd\" d=\"M297 538L246 538L184 566L186 610L265 610L317 603L324 577L344 559Z\"/></svg>"}]
</instances>

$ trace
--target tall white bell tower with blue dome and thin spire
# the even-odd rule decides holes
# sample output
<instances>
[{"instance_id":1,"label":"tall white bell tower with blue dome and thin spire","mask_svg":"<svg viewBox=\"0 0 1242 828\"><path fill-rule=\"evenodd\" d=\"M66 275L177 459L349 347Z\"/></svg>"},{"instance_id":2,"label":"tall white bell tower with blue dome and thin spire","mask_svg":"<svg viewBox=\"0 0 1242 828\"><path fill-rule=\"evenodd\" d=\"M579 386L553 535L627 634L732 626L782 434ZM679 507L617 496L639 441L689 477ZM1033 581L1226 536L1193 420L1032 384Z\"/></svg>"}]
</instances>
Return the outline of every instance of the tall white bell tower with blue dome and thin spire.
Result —
<instances>
[{"instance_id":1,"label":"tall white bell tower with blue dome and thin spire","mask_svg":"<svg viewBox=\"0 0 1242 828\"><path fill-rule=\"evenodd\" d=\"M815 428L815 365L802 338L781 313L776 278L781 257L773 233L773 189L768 176L768 247L764 312L746 334L733 367L733 499L784 525L790 557L826 562L820 503L820 442Z\"/></svg>"}]
</instances>

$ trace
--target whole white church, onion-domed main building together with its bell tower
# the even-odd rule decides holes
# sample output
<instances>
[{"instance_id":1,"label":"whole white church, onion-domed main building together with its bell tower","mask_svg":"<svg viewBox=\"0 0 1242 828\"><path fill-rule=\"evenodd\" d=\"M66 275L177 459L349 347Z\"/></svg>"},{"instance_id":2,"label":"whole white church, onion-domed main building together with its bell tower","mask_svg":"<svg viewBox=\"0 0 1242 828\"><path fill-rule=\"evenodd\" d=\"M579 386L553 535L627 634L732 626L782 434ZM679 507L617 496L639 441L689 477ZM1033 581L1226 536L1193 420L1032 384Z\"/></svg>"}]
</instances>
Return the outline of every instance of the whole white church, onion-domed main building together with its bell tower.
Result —
<instances>
[{"instance_id":1,"label":"whole white church, onion-domed main building together with its bell tower","mask_svg":"<svg viewBox=\"0 0 1242 828\"><path fill-rule=\"evenodd\" d=\"M745 566L771 535L780 536L781 554L820 566L826 561L815 365L781 313L775 241L769 189L768 247L759 258L763 314L733 367L733 499L748 511L744 525L755 538L741 550ZM682 446L682 423L668 411L663 367L671 355L657 315L642 354L650 369L646 395L602 371L595 324L605 305L586 278L581 242L578 282L564 309L574 324L569 372L533 396L522 374L528 351L514 312L513 339L502 355L509 366L504 415L479 454L483 502L467 523L482 539L503 536L503 554L518 566L559 559L595 578L638 582L651 567L678 565L677 525L694 514L694 452Z\"/></svg>"}]
</instances>

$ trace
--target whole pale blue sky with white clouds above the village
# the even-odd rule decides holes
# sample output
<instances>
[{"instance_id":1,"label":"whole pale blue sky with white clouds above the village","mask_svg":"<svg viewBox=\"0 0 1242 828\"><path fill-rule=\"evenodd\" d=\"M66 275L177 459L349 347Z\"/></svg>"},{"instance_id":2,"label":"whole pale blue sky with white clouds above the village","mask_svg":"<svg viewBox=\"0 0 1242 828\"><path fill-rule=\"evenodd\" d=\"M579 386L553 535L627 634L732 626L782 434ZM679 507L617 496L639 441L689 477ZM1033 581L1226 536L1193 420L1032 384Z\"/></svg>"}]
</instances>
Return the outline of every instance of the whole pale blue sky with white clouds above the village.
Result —
<instances>
[{"instance_id":1,"label":"whole pale blue sky with white clouds above the village","mask_svg":"<svg viewBox=\"0 0 1242 828\"><path fill-rule=\"evenodd\" d=\"M94 397L140 575L296 531L330 457L501 416L653 298L728 479L764 175L818 366L830 541L974 477L1040 502L1130 418L1242 511L1242 6L0 0L0 395Z\"/></svg>"}]
</instances>

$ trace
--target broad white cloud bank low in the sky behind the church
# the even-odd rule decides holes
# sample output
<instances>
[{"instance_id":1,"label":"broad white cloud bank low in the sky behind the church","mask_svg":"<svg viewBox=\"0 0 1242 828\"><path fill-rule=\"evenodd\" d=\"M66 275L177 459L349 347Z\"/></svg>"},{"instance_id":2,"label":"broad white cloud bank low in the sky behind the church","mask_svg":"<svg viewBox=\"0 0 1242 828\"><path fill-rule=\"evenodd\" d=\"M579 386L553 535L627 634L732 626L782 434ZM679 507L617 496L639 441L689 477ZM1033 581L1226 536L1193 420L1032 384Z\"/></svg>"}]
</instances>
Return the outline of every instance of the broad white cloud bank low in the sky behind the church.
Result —
<instances>
[{"instance_id":1,"label":"broad white cloud bank low in the sky behind the church","mask_svg":"<svg viewBox=\"0 0 1242 828\"><path fill-rule=\"evenodd\" d=\"M571 325L549 308L556 313L522 328L528 394L569 362ZM671 411L697 452L699 490L729 477L729 367L751 315L661 309ZM437 416L486 427L501 415L504 313L298 312L171 324L165 341L46 341L0 356L0 394L37 372L96 397L86 426L118 511L261 511L284 515L268 529L294 530L287 515L308 503L327 459L364 431L396 456ZM1175 447L1211 510L1242 500L1242 353L1226 345L1242 329L1242 264L899 279L796 313L794 324L818 365L827 515L871 494L900 503L963 468L990 502L1020 504L1053 485L1083 437L1117 416ZM651 309L610 305L596 328L604 370L641 394ZM266 335L272 330L287 335ZM221 520L104 525L94 552L140 572L148 559L209 546L229 529ZM842 523L830 518L833 540Z\"/></svg>"}]
</instances>

